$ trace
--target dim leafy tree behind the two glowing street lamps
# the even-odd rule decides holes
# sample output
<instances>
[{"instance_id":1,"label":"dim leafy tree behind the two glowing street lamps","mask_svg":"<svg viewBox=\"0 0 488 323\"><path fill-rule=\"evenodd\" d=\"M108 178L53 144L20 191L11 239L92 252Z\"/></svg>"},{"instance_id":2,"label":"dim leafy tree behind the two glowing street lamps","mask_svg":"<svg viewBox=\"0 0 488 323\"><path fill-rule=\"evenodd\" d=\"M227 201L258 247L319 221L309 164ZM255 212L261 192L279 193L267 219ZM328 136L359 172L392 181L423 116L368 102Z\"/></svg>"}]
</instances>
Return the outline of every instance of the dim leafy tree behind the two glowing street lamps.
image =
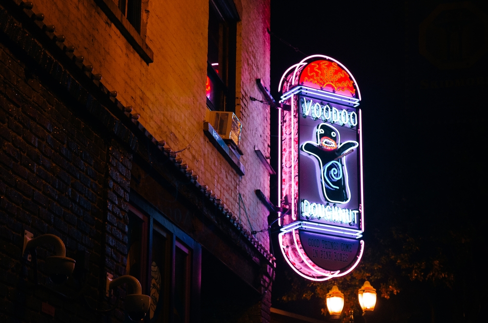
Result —
<instances>
[{"instance_id":1,"label":"dim leafy tree behind the two glowing street lamps","mask_svg":"<svg viewBox=\"0 0 488 323\"><path fill-rule=\"evenodd\" d=\"M378 298L384 300L381 301L383 309L389 313L389 317L379 317L378 322L413 322L418 318L425 322L440 322L443 317L448 318L447 322L454 322L456 318L476 322L483 288L480 284L467 288L464 275L469 266L481 268L479 263L469 259L473 247L481 243L481 239L475 238L478 231L472 225L455 229L451 226L447 230L434 224L424 229L407 224L394 226L387 229L387 234L385 230L376 229L366 237L363 259L350 274L325 282L313 282L290 270L285 274L290 288L280 295L279 302L316 298L321 300L322 314L327 315L326 294L333 285L338 285L345 295L343 322L349 321L351 310L358 320L362 310L357 293L367 280L377 289ZM476 272L476 269L471 268L471 271ZM461 296L456 297L459 293ZM402 294L404 297L399 298ZM469 301L467 294L475 300ZM462 306L456 307L459 301Z\"/></svg>"}]
</instances>

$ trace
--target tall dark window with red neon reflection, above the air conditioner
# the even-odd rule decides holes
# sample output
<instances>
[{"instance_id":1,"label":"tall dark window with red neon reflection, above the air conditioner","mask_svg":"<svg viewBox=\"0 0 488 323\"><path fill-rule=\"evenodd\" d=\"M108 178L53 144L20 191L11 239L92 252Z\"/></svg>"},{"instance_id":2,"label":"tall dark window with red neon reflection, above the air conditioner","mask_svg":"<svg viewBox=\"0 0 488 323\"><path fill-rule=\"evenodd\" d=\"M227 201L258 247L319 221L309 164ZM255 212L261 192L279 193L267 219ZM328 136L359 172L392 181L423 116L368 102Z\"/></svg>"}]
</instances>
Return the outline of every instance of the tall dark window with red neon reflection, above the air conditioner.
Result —
<instances>
[{"instance_id":1,"label":"tall dark window with red neon reflection, above the air conditioner","mask_svg":"<svg viewBox=\"0 0 488 323\"><path fill-rule=\"evenodd\" d=\"M205 92L210 110L234 112L237 20L223 9L210 0Z\"/></svg>"}]
</instances>

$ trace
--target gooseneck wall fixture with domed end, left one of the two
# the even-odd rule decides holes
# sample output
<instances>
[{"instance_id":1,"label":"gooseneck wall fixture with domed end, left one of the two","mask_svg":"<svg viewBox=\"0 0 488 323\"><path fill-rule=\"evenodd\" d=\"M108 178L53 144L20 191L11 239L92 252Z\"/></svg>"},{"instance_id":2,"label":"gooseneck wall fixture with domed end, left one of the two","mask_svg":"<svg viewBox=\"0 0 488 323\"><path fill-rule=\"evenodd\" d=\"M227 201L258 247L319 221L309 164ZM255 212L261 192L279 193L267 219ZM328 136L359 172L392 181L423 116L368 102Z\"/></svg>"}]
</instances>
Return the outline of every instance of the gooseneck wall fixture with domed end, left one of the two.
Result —
<instances>
[{"instance_id":1,"label":"gooseneck wall fixture with domed end, left one of the two","mask_svg":"<svg viewBox=\"0 0 488 323\"><path fill-rule=\"evenodd\" d=\"M24 232L24 245L22 248L22 255L27 255L27 261L31 261L31 255L35 252L36 247L44 244L54 245L55 256L46 257L44 260L44 268L49 278L53 283L64 283L73 273L75 269L75 260L66 257L66 248L62 240L53 234L43 234L37 238L29 231Z\"/></svg>"}]
</instances>

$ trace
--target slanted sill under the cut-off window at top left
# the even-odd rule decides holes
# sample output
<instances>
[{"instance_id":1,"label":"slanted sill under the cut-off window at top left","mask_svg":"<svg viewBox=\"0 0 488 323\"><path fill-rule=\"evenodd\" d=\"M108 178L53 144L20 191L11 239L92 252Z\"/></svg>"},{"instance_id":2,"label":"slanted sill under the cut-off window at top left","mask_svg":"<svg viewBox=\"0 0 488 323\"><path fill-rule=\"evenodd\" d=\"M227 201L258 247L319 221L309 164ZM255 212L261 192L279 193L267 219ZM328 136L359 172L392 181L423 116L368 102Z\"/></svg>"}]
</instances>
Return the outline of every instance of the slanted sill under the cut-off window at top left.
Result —
<instances>
[{"instance_id":1,"label":"slanted sill under the cut-off window at top left","mask_svg":"<svg viewBox=\"0 0 488 323\"><path fill-rule=\"evenodd\" d=\"M119 29L122 36L131 44L134 50L141 56L147 64L154 61L154 53L141 35L132 26L132 24L122 15L122 11L113 0L95 0L97 5L107 15L108 19Z\"/></svg>"}]
</instances>

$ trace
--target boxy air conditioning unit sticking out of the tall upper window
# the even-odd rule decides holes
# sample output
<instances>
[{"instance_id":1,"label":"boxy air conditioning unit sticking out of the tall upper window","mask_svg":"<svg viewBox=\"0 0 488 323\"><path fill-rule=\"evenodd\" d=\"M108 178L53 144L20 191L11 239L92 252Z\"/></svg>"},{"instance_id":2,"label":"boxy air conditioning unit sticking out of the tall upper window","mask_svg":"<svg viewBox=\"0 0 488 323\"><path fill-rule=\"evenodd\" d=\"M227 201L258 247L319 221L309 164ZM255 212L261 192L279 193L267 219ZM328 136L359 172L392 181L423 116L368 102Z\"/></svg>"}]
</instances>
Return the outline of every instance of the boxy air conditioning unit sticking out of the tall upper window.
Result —
<instances>
[{"instance_id":1,"label":"boxy air conditioning unit sticking out of the tall upper window","mask_svg":"<svg viewBox=\"0 0 488 323\"><path fill-rule=\"evenodd\" d=\"M239 146L243 126L233 112L209 110L205 119L225 142Z\"/></svg>"}]
</instances>

